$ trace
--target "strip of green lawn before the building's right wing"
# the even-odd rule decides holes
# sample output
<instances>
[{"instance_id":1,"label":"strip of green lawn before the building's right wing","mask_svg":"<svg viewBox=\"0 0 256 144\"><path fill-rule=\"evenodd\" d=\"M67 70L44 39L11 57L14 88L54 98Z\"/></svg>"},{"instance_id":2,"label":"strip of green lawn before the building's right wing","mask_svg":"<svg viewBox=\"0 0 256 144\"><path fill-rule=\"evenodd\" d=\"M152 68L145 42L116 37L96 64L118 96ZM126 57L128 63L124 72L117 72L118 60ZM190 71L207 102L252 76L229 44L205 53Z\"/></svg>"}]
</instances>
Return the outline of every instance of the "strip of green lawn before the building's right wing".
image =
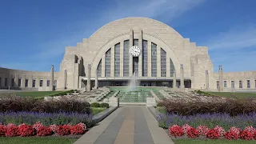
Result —
<instances>
[{"instance_id":1,"label":"strip of green lawn before the building's right wing","mask_svg":"<svg viewBox=\"0 0 256 144\"><path fill-rule=\"evenodd\" d=\"M225 98L256 98L256 93L209 92Z\"/></svg>"}]
</instances>

